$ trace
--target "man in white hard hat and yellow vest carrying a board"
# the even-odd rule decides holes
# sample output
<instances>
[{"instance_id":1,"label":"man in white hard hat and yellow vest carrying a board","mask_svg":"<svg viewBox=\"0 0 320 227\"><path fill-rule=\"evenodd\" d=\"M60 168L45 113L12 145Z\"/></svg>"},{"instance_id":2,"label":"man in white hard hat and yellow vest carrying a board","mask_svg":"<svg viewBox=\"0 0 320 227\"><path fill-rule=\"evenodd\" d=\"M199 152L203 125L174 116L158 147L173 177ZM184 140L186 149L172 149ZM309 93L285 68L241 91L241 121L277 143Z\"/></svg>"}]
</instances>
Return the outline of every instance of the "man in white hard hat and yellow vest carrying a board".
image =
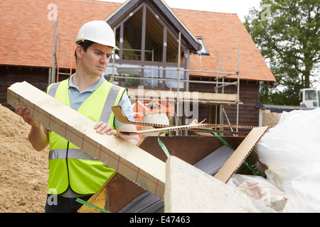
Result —
<instances>
[{"instance_id":1,"label":"man in white hard hat and yellow vest carrying a board","mask_svg":"<svg viewBox=\"0 0 320 227\"><path fill-rule=\"evenodd\" d=\"M97 133L116 135L117 131L136 131L134 125L122 124L114 118L111 106L121 105L133 121L131 102L126 89L102 77L115 45L114 33L105 21L90 21L80 28L75 39L76 71L70 78L50 84L47 93L96 122ZM119 49L118 49L119 50ZM99 160L69 143L35 121L26 106L17 106L16 114L31 125L28 140L36 150L50 144L48 198L46 212L76 212L112 175L112 170ZM72 117L72 116L70 116ZM81 123L81 122L79 122ZM121 135L137 145L138 135Z\"/></svg>"}]
</instances>

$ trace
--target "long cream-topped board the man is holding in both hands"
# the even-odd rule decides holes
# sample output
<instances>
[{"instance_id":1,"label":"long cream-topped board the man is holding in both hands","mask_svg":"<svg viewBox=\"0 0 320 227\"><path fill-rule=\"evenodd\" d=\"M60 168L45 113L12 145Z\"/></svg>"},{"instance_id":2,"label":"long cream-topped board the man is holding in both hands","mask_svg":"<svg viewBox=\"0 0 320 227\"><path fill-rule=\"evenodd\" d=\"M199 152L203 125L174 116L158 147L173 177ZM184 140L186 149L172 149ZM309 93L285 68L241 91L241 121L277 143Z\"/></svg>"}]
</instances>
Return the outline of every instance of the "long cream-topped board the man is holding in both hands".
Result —
<instances>
[{"instance_id":1,"label":"long cream-topped board the man is holding in both hands","mask_svg":"<svg viewBox=\"0 0 320 227\"><path fill-rule=\"evenodd\" d=\"M104 162L140 187L163 198L165 163L119 136L100 135L95 122L27 82L8 88L11 106L27 106L36 121Z\"/></svg>"}]
</instances>

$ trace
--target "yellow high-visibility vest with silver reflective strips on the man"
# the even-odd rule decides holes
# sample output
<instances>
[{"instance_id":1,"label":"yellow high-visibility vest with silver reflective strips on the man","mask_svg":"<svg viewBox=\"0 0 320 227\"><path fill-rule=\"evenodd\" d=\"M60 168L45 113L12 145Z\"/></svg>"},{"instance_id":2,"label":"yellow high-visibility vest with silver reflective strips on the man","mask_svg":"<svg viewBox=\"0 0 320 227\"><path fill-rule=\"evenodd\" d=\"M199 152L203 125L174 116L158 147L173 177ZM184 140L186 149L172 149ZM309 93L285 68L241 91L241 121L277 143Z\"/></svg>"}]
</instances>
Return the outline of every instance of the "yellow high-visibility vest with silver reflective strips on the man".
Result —
<instances>
[{"instance_id":1,"label":"yellow high-visibility vest with silver reflective strips on the man","mask_svg":"<svg viewBox=\"0 0 320 227\"><path fill-rule=\"evenodd\" d=\"M47 93L70 106L68 86L69 80L65 79L51 84ZM125 91L105 81L84 101L78 112L92 121L104 121L114 128L111 106L119 104ZM53 131L49 132L49 143L48 194L62 194L69 186L78 194L94 194L114 172Z\"/></svg>"}]
</instances>

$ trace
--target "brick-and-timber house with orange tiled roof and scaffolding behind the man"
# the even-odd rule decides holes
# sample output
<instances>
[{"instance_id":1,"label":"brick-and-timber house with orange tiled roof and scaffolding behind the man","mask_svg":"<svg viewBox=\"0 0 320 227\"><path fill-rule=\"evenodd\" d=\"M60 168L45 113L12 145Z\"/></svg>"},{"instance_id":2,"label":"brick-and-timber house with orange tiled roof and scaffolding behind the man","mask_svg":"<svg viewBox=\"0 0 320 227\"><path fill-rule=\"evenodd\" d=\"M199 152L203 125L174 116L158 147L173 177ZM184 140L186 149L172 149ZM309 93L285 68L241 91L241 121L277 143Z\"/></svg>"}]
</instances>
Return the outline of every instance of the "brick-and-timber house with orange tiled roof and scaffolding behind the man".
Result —
<instances>
[{"instance_id":1,"label":"brick-and-timber house with orange tiled roof and scaffolding behind the man","mask_svg":"<svg viewBox=\"0 0 320 227\"><path fill-rule=\"evenodd\" d=\"M257 126L260 82L275 81L233 13L170 9L162 0L6 4L11 10L1 8L0 28L4 105L6 88L15 82L30 82L45 90L50 82L70 77L75 72L73 40L82 24L92 20L110 24L120 49L114 52L105 77L128 87L132 104L174 92L164 98L175 107L175 124L198 118L206 119L205 123ZM14 18L20 20L11 23ZM139 97L138 88L144 97ZM148 92L159 97L146 96Z\"/></svg>"}]
</instances>

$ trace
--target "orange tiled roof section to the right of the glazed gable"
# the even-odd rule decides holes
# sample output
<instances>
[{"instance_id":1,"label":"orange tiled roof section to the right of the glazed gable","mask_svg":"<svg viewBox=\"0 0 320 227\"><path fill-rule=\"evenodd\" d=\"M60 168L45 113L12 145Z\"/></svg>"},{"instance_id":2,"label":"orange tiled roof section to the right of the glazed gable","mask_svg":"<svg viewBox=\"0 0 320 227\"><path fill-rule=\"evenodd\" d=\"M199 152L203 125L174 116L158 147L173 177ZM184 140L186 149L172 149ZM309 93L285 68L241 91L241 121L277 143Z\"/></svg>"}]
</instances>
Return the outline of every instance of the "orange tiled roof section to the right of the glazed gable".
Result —
<instances>
[{"instance_id":1,"label":"orange tiled roof section to the right of the glazed gable","mask_svg":"<svg viewBox=\"0 0 320 227\"><path fill-rule=\"evenodd\" d=\"M191 56L191 70L238 72L240 45L240 78L275 81L274 75L237 14L185 9L173 9L173 11L193 35L203 37L210 53L210 57ZM216 74L207 75L216 76Z\"/></svg>"}]
</instances>

